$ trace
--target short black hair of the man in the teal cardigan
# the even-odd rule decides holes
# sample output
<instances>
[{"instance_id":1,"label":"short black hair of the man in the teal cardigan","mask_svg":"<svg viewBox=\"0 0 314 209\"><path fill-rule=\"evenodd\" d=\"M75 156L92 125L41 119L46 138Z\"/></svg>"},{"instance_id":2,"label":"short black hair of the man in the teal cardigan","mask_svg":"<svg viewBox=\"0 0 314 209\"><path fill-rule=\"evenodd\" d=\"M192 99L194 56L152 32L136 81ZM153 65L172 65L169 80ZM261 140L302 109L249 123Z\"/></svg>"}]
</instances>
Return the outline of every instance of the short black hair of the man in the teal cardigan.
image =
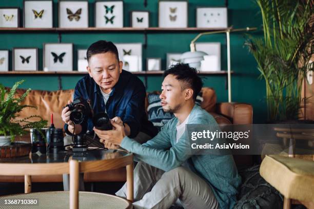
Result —
<instances>
[{"instance_id":1,"label":"short black hair of the man in the teal cardigan","mask_svg":"<svg viewBox=\"0 0 314 209\"><path fill-rule=\"evenodd\" d=\"M174 75L177 80L181 81L182 90L187 88L193 89L193 99L195 101L203 87L203 81L198 76L198 71L195 68L191 68L188 64L179 63L165 70L163 76L166 77L169 74Z\"/></svg>"}]
</instances>

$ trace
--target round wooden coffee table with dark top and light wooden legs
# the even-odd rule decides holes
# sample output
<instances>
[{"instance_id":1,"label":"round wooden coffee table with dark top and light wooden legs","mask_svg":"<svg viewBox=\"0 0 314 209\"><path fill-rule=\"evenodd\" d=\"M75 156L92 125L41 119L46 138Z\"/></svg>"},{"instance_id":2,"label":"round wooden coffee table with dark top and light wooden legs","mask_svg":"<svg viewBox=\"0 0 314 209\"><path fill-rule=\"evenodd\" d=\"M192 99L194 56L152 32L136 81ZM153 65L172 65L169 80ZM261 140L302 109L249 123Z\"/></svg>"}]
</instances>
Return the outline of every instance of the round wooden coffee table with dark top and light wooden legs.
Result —
<instances>
[{"instance_id":1,"label":"round wooden coffee table with dark top and light wooden legs","mask_svg":"<svg viewBox=\"0 0 314 209\"><path fill-rule=\"evenodd\" d=\"M133 155L126 151L89 150L85 154L61 152L30 154L0 159L0 175L25 176L25 193L31 192L32 175L70 174L70 208L78 208L79 173L99 172L126 167L127 200L133 201Z\"/></svg>"}]
</instances>

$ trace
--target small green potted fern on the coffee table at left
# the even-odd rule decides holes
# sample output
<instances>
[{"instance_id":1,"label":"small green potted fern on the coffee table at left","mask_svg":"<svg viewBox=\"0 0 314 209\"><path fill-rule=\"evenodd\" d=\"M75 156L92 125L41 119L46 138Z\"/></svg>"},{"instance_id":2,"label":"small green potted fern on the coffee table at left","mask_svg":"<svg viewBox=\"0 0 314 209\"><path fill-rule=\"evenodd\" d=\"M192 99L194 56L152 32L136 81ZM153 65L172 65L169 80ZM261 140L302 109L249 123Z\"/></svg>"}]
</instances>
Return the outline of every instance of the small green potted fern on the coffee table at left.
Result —
<instances>
[{"instance_id":1,"label":"small green potted fern on the coffee table at left","mask_svg":"<svg viewBox=\"0 0 314 209\"><path fill-rule=\"evenodd\" d=\"M23 82L24 80L17 81L10 91L0 83L0 146L11 145L16 136L27 134L27 130L30 128L40 130L47 126L47 120L43 120L39 115L32 115L20 120L15 119L24 108L36 108L21 105L30 89L20 97L14 96L16 89ZM31 118L38 118L38 120L31 122L29 121Z\"/></svg>"}]
</instances>

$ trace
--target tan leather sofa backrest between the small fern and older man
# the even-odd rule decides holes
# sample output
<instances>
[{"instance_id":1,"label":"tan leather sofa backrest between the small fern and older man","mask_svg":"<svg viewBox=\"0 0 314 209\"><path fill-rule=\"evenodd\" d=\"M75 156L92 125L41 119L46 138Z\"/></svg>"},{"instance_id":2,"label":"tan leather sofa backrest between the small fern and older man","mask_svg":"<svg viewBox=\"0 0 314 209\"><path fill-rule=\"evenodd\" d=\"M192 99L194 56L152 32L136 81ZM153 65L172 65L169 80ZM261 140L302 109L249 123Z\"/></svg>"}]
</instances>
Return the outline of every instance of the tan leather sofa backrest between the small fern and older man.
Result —
<instances>
[{"instance_id":1,"label":"tan leather sofa backrest between the small fern and older man","mask_svg":"<svg viewBox=\"0 0 314 209\"><path fill-rule=\"evenodd\" d=\"M17 89L16 96L21 96L26 92L24 89ZM66 106L68 100L72 100L74 90L59 90L59 91L41 91L32 90L22 102L22 105L35 106L35 108L25 108L16 118L24 119L30 115L40 115L50 124L50 114L53 113L53 123L56 128L63 128L64 122L61 118L62 107ZM30 121L37 120L29 119Z\"/></svg>"}]
</instances>

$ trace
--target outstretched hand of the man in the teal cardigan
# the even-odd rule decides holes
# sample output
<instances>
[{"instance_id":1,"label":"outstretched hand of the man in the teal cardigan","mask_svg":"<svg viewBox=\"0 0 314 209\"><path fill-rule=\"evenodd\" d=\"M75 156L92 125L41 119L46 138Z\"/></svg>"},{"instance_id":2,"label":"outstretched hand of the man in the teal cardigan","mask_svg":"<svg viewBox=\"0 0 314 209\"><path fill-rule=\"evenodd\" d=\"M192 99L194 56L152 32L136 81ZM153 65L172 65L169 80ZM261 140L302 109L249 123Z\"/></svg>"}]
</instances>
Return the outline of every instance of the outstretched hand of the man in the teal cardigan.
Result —
<instances>
[{"instance_id":1,"label":"outstretched hand of the man in the teal cardigan","mask_svg":"<svg viewBox=\"0 0 314 209\"><path fill-rule=\"evenodd\" d=\"M123 124L119 124L114 120L111 120L111 124L113 129L109 131L101 131L93 128L97 136L100 138L100 141L105 144L105 147L107 147L106 144L108 146L112 146L113 144L120 145L122 139L126 136ZM114 149L116 149L116 147Z\"/></svg>"}]
</instances>

